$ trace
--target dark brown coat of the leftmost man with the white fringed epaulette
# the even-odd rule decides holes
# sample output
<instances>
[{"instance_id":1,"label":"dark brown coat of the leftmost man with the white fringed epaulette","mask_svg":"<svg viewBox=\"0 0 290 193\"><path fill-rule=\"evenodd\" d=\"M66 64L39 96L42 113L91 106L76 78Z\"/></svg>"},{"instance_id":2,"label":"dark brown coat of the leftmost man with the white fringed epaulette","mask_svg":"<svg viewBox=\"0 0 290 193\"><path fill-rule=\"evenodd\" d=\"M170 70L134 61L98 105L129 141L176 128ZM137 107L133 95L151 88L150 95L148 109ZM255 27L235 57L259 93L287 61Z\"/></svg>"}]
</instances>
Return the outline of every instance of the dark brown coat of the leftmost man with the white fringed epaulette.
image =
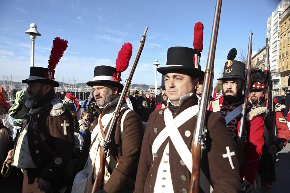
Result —
<instances>
[{"instance_id":1,"label":"dark brown coat of the leftmost man with the white fringed epaulette","mask_svg":"<svg viewBox=\"0 0 290 193\"><path fill-rule=\"evenodd\" d=\"M37 105L32 108L44 107L46 104L49 104L54 98L55 97L53 90L53 92L50 92L46 96L44 96L39 102L37 102ZM28 146L32 160L35 166L37 166L37 170L35 170L34 168L27 168L27 171L31 170L31 172L29 173L31 174L30 177L32 178L41 177L42 179L51 183L59 183L64 178L64 169L73 154L75 146L74 121L73 116L68 109L66 109L65 112L59 116L50 115L50 109L45 112L42 112L40 110L33 116L33 119L37 120L37 116L39 115L37 125L44 133L46 137L46 140L44 140L44 142L46 142L46 144L48 144L48 146L53 150L53 155L50 155L48 150L41 144L39 139L36 137L30 126L28 126ZM25 122L23 123L20 132L22 132L26 125L29 124L29 117L30 115L26 115L24 117ZM64 120L66 120L67 124L69 124L69 126L66 127L66 135L64 135L64 127L61 126L61 124L64 123ZM15 144L17 144L17 141ZM61 160L62 162L60 163L59 160Z\"/></svg>"}]
</instances>

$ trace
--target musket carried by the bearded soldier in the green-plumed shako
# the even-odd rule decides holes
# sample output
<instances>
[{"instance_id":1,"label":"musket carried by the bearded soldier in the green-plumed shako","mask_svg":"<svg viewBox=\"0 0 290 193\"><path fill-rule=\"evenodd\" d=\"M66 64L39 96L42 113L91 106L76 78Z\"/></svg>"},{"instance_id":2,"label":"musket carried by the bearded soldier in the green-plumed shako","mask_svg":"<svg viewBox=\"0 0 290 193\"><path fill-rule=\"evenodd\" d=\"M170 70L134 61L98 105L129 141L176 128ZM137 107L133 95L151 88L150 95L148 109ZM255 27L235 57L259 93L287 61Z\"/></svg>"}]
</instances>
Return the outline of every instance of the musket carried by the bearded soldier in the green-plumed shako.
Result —
<instances>
[{"instance_id":1,"label":"musket carried by the bearded soldier in the green-plumed shako","mask_svg":"<svg viewBox=\"0 0 290 193\"><path fill-rule=\"evenodd\" d=\"M246 113L247 113L247 106L248 106L248 93L249 88L251 87L250 84L250 70L251 70L251 59L252 59L252 36L253 31L250 31L250 39L249 39L249 46L248 46L248 56L247 56L247 65L246 65L246 72L245 72L245 88L244 88L244 101L242 104L242 113L241 113L241 120L240 120L240 128L238 132L238 159L240 159L240 169L242 169L242 163L243 163L243 152L244 152L244 146L247 142L247 134L245 130L246 125Z\"/></svg>"}]
</instances>

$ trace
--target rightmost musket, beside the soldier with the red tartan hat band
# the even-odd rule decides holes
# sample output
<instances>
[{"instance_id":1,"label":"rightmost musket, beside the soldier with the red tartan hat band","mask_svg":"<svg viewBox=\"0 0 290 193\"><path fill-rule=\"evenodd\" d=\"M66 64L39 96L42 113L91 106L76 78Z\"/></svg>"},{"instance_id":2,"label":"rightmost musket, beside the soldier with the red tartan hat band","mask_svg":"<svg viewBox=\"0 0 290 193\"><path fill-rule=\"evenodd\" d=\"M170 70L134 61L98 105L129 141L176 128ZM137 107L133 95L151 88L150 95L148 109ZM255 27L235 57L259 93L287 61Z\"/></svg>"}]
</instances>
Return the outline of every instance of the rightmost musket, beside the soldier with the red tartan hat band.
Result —
<instances>
[{"instance_id":1,"label":"rightmost musket, beside the soldier with the red tartan hat band","mask_svg":"<svg viewBox=\"0 0 290 193\"><path fill-rule=\"evenodd\" d=\"M270 58L269 58L269 45L268 45L268 38L266 38L266 57L267 57L267 79L268 79L268 109L269 113L267 115L268 123L272 123L272 129L270 130L271 137L270 137L270 146L273 144L273 142L277 139L277 127L275 123L275 113L273 111L274 103L273 103L273 84L271 80L271 69L270 69ZM270 124L271 125L271 124Z\"/></svg>"}]
</instances>

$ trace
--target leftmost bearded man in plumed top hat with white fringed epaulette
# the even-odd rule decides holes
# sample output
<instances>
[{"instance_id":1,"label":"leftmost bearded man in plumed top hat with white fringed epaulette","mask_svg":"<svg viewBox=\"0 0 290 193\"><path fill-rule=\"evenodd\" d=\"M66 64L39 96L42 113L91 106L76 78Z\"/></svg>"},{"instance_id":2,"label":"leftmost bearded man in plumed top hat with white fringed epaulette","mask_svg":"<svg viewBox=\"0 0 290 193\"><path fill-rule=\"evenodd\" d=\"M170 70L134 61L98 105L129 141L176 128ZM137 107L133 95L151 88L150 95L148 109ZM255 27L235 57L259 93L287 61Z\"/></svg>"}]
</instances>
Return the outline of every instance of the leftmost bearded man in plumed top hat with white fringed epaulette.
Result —
<instances>
[{"instance_id":1,"label":"leftmost bearded man in plumed top hat with white fringed epaulette","mask_svg":"<svg viewBox=\"0 0 290 193\"><path fill-rule=\"evenodd\" d=\"M64 50L53 52L55 47ZM66 40L55 38L48 68L30 67L28 79L22 81L28 84L29 111L6 161L13 158L13 166L23 169L23 192L69 191L64 172L74 150L74 122L54 91L59 86L54 68L66 47Z\"/></svg>"}]
</instances>

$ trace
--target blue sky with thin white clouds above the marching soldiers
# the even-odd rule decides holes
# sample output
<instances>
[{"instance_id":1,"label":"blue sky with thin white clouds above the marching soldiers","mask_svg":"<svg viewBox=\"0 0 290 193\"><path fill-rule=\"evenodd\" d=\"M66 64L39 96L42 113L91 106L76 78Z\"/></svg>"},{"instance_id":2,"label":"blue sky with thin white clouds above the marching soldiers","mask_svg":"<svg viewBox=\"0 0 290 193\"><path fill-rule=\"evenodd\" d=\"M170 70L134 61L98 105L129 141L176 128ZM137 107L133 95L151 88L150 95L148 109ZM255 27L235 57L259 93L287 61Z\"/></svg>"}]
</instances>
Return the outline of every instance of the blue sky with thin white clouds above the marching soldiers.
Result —
<instances>
[{"instance_id":1,"label":"blue sky with thin white clouds above the marching soldiers","mask_svg":"<svg viewBox=\"0 0 290 193\"><path fill-rule=\"evenodd\" d=\"M229 50L247 51L249 31L253 30L253 50L265 45L267 19L280 1L224 0L215 54L215 79L223 69ZM146 25L146 44L132 83L155 84L154 60L166 65L167 49L193 47L193 27L204 24L204 49L201 57L205 69L215 0L207 1L81 1L81 0L11 0L0 1L0 80L27 79L30 68L30 38L24 32L30 23L37 24L42 36L35 41L35 66L46 67L55 37L68 40L66 54L56 67L58 81L77 83L93 79L97 65L114 66L121 46L133 44L133 54ZM239 53L238 53L239 54ZM125 80L129 68L122 73ZM158 73L157 84L161 83ZM124 82L124 81L122 81Z\"/></svg>"}]
</instances>

